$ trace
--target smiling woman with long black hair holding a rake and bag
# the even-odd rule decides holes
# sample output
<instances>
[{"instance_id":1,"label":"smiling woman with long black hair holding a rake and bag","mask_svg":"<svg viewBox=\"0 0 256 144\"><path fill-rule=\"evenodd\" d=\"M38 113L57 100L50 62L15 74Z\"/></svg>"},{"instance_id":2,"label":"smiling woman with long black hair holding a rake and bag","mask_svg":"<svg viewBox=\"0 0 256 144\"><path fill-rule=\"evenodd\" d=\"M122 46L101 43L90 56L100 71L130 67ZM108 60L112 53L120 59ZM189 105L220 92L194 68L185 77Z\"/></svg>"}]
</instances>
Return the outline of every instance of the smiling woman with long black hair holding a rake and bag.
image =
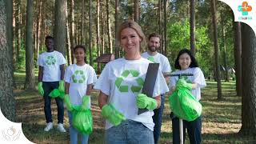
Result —
<instances>
[{"instance_id":1,"label":"smiling woman with long black hair holding a rake and bag","mask_svg":"<svg viewBox=\"0 0 256 144\"><path fill-rule=\"evenodd\" d=\"M183 49L178 53L178 57L175 60L174 71L172 74L193 74L188 76L186 80L178 79L178 77L170 78L170 91L174 91L176 86L185 86L194 97L199 101L201 99L201 88L206 86L206 81L202 70L198 67L198 62L191 54L190 50ZM183 134L188 132L190 143L201 143L201 130L202 130L202 117L198 117L194 121L188 122L183 120ZM172 130L173 130L173 142L174 144L180 143L179 136L179 119L177 117L172 118ZM185 136L183 136L183 142L185 143Z\"/></svg>"}]
</instances>

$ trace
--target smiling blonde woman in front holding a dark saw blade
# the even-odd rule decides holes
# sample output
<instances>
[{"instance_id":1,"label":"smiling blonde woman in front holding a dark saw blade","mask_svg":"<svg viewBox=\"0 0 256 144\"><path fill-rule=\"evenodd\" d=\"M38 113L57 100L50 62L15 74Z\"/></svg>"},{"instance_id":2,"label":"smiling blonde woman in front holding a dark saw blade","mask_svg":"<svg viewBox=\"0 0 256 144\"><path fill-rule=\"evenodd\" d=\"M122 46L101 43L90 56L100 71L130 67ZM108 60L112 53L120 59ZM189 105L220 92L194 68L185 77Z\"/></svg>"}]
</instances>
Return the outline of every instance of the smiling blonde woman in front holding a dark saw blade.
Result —
<instances>
[{"instance_id":1,"label":"smiling blonde woman in front holding a dark saw blade","mask_svg":"<svg viewBox=\"0 0 256 144\"><path fill-rule=\"evenodd\" d=\"M100 90L98 105L106 118L105 143L153 144L153 110L161 105L160 94L169 89L158 70L153 98L141 94L151 63L141 56L146 38L136 22L123 22L119 28L118 42L125 50L124 58L107 63L94 86ZM138 108L149 111L138 115Z\"/></svg>"}]
</instances>

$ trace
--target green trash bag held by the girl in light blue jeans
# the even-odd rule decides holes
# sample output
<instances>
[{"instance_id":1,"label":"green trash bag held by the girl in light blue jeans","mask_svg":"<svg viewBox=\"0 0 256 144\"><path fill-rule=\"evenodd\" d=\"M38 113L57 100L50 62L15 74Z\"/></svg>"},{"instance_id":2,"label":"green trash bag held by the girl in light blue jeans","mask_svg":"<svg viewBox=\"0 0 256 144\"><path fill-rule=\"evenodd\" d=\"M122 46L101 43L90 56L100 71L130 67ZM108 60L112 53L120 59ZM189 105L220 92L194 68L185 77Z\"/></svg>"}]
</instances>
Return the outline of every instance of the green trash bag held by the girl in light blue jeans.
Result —
<instances>
[{"instance_id":1,"label":"green trash bag held by the girl in light blue jeans","mask_svg":"<svg viewBox=\"0 0 256 144\"><path fill-rule=\"evenodd\" d=\"M72 116L72 125L78 132L81 134L91 134L93 131L93 118L90 109L78 111L75 108L72 111Z\"/></svg>"}]
</instances>

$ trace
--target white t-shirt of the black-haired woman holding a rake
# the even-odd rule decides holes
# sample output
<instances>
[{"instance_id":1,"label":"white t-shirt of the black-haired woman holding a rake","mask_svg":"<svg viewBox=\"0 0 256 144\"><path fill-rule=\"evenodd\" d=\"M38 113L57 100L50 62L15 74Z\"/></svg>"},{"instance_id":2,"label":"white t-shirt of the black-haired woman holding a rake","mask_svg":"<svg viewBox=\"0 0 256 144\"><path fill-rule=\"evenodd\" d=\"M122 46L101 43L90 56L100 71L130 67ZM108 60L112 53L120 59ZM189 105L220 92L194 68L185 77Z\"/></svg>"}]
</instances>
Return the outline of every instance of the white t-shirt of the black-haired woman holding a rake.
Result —
<instances>
[{"instance_id":1,"label":"white t-shirt of the black-haired woman holding a rake","mask_svg":"<svg viewBox=\"0 0 256 144\"><path fill-rule=\"evenodd\" d=\"M206 86L206 80L200 68L193 67L193 68L188 68L186 70L177 70L177 71L174 71L172 74L193 74L193 76L184 76L184 77L186 82L198 84L198 87L196 89L193 89L191 93L194 95L194 98L196 98L198 101L201 99L201 88ZM178 76L170 77L170 87L175 86L177 81L178 81Z\"/></svg>"}]
</instances>

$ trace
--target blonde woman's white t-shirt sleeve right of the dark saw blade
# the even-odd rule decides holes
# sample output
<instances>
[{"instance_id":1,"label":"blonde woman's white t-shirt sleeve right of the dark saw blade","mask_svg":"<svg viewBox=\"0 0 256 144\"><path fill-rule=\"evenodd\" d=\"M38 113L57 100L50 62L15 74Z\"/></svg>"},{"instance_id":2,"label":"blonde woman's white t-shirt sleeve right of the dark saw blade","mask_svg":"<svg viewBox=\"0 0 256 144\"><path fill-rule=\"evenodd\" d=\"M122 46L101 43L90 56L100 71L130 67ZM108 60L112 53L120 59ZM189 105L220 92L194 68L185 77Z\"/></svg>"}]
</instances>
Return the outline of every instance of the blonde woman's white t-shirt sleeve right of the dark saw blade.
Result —
<instances>
[{"instance_id":1,"label":"blonde woman's white t-shirt sleeve right of the dark saw blade","mask_svg":"<svg viewBox=\"0 0 256 144\"><path fill-rule=\"evenodd\" d=\"M166 80L163 77L161 70L158 70L158 76L154 84L153 98L160 94L165 94L168 91L169 91L169 88L166 84Z\"/></svg>"}]
</instances>

